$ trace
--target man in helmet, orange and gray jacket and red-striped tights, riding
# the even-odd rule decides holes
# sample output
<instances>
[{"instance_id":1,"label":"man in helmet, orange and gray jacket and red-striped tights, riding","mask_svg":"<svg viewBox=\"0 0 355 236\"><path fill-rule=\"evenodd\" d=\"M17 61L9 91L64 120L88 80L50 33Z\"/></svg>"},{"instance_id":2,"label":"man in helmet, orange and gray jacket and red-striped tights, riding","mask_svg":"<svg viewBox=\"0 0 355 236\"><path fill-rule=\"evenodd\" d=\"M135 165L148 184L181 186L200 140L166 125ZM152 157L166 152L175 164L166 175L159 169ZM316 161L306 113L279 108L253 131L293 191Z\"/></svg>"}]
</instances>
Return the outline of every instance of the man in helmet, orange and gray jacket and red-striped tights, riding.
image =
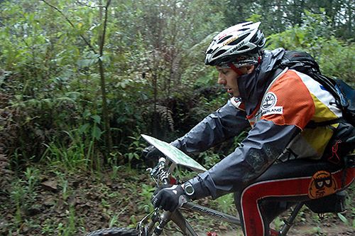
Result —
<instances>
[{"instance_id":1,"label":"man in helmet, orange and gray jacket and red-striped tights, riding","mask_svg":"<svg viewBox=\"0 0 355 236\"><path fill-rule=\"evenodd\" d=\"M325 166L322 161L337 124L306 127L342 117L334 97L308 75L278 69L285 50L263 50L259 25L239 23L213 38L205 64L216 67L218 83L231 99L172 144L188 154L251 127L248 136L209 171L153 196L155 206L173 211L187 186L191 199L234 193L245 235L269 235L270 222L293 201L337 193L354 176L347 175L344 183L340 161ZM158 150L145 153L149 159Z\"/></svg>"}]
</instances>

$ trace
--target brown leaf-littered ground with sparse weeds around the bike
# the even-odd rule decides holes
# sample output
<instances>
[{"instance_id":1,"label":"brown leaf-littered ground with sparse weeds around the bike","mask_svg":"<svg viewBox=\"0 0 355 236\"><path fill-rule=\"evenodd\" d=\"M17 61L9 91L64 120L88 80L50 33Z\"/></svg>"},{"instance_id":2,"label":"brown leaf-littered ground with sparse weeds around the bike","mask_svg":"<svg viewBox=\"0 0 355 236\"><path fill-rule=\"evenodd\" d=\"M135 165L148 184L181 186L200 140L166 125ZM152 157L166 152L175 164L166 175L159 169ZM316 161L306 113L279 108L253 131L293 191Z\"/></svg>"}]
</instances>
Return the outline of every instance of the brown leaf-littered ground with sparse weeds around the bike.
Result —
<instances>
[{"instance_id":1,"label":"brown leaf-littered ground with sparse weeds around the bike","mask_svg":"<svg viewBox=\"0 0 355 236\"><path fill-rule=\"evenodd\" d=\"M43 166L36 168L38 175L33 180L35 191L32 193L29 193L26 176L21 179L8 176L7 185L2 179L0 235L85 235L109 225L134 227L151 210L149 199L153 188L150 188L152 182L146 173L122 168L117 173L107 171L99 175L85 171L48 172ZM22 195L16 195L17 192ZM355 235L351 226L354 210L349 208L343 215L349 222L342 222L334 214L319 220L317 214L302 210L288 235ZM196 225L202 232L199 235L206 235L211 228L217 229L217 235L242 235L240 229L197 215L192 225L195 226L195 222L200 225ZM173 234L169 232L168 235Z\"/></svg>"}]
</instances>

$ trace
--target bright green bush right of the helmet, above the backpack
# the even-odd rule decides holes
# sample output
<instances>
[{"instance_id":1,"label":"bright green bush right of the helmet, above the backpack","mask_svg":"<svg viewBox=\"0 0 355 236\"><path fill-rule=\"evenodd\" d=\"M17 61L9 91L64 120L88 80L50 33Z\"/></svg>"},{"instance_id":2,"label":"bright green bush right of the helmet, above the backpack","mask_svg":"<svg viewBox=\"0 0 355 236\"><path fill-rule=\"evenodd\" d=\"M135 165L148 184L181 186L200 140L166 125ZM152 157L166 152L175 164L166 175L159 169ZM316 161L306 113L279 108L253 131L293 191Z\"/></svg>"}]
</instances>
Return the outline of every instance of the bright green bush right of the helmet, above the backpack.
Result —
<instances>
[{"instance_id":1,"label":"bright green bush right of the helmet, above the backpack","mask_svg":"<svg viewBox=\"0 0 355 236\"><path fill-rule=\"evenodd\" d=\"M354 83L355 45L335 38L331 25L325 15L306 11L302 26L269 36L267 48L305 50L315 57L324 75Z\"/></svg>"}]
</instances>

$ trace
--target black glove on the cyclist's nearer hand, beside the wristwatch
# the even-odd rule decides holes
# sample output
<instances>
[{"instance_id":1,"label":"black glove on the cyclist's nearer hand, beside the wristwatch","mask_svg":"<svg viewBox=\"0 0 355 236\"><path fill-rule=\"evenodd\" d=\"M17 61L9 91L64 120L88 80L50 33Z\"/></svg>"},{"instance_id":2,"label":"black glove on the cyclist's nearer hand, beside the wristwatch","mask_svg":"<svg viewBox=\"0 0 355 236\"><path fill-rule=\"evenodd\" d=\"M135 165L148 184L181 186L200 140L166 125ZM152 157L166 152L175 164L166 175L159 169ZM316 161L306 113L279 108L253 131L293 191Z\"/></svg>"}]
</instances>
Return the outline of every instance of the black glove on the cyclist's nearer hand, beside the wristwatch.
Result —
<instances>
[{"instance_id":1,"label":"black glove on the cyclist's nearer hand, beside the wristwatch","mask_svg":"<svg viewBox=\"0 0 355 236\"><path fill-rule=\"evenodd\" d=\"M162 208L173 212L176 208L180 208L183 203L187 202L187 196L181 185L174 185L169 188L163 188L153 195L152 203L155 208Z\"/></svg>"}]
</instances>

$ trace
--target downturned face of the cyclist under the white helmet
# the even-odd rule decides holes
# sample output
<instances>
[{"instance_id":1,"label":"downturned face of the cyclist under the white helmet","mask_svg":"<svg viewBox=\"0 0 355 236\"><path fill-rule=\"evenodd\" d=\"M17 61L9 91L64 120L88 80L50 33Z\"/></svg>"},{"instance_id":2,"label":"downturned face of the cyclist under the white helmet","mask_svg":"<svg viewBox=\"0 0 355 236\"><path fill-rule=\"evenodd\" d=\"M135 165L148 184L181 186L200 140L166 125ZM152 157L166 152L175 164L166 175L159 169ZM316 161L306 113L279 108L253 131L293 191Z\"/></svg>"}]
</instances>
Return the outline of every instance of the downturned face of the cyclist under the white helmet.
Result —
<instances>
[{"instance_id":1,"label":"downturned face of the cyclist under the white helmet","mask_svg":"<svg viewBox=\"0 0 355 236\"><path fill-rule=\"evenodd\" d=\"M226 92L233 97L239 97L238 77L239 75L231 68L221 68L216 66L218 70L218 83L224 85ZM246 74L247 68L239 68L241 73Z\"/></svg>"}]
</instances>

